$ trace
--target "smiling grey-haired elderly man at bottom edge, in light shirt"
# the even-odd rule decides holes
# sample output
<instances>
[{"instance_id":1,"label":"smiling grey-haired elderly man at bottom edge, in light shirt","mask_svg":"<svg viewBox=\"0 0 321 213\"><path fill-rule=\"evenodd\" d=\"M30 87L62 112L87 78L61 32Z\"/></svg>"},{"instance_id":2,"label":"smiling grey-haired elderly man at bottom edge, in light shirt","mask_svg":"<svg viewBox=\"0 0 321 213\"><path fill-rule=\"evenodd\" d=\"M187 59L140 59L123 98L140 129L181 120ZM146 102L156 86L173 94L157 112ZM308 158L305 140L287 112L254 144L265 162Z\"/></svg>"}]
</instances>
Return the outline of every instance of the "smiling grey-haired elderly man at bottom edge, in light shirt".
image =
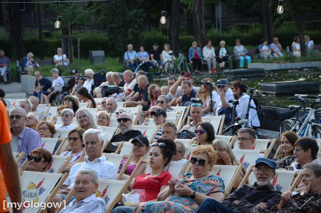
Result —
<instances>
[{"instance_id":1,"label":"smiling grey-haired elderly man at bottom edge, in light shirt","mask_svg":"<svg viewBox=\"0 0 321 213\"><path fill-rule=\"evenodd\" d=\"M91 169L81 169L77 172L74 184L75 199L59 213L69 212L105 212L105 201L96 198L98 176Z\"/></svg>"}]
</instances>

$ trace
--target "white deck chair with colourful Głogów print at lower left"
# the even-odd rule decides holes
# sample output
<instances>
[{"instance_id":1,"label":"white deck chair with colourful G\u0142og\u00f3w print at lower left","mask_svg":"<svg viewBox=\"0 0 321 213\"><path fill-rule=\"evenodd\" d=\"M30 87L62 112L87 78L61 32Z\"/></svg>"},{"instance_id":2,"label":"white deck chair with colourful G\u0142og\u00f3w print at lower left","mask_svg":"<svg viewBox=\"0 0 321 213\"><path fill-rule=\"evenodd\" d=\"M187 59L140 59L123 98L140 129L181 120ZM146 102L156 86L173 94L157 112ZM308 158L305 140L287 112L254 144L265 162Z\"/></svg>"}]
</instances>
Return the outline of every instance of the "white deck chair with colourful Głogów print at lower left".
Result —
<instances>
[{"instance_id":1,"label":"white deck chair with colourful G\u0142og\u00f3w print at lower left","mask_svg":"<svg viewBox=\"0 0 321 213\"><path fill-rule=\"evenodd\" d=\"M46 172L23 171L21 176L23 201L28 200L38 203L51 202L67 177L68 173L50 174ZM32 198L30 198L30 194L32 194ZM63 207L63 203L61 207ZM33 206L33 208L25 208L23 212L47 212L47 209L41 210L40 208L40 206L39 208Z\"/></svg>"}]
</instances>

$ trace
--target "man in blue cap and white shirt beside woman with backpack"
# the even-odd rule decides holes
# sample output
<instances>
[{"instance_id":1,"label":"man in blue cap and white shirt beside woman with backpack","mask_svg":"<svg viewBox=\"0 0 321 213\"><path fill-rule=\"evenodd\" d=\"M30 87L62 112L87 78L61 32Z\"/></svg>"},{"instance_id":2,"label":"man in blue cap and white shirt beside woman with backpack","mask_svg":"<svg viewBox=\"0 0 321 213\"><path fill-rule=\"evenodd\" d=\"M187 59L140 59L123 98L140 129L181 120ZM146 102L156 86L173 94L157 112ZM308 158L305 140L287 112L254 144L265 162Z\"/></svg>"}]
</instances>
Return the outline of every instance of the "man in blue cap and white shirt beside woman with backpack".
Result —
<instances>
[{"instance_id":1,"label":"man in blue cap and white shirt beside woman with backpack","mask_svg":"<svg viewBox=\"0 0 321 213\"><path fill-rule=\"evenodd\" d=\"M220 79L217 84L219 91L219 96L217 96L216 104L214 106L215 116L218 116L221 107L232 107L231 103L228 103L228 99L234 99L233 92L230 89L229 81L227 79Z\"/></svg>"}]
</instances>

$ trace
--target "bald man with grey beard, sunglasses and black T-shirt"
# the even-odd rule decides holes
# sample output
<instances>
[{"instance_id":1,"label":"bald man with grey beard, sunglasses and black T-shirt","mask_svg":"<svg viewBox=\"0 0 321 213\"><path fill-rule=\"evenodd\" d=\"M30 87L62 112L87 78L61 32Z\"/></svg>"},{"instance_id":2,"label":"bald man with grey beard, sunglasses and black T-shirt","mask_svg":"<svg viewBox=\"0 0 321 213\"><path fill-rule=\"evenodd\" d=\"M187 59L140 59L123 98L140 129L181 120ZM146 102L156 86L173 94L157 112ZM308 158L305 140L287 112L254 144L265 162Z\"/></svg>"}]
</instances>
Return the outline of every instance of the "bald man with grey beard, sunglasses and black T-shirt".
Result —
<instances>
[{"instance_id":1,"label":"bald man with grey beard, sunglasses and black T-shirt","mask_svg":"<svg viewBox=\"0 0 321 213\"><path fill-rule=\"evenodd\" d=\"M119 117L117 118L117 122L118 122L120 133L115 134L110 139L111 143L108 143L106 149L104 150L104 153L115 152L118 145L122 141L127 142L130 139L133 139L139 135L143 135L140 131L132 129L133 118L129 113L124 112L120 114Z\"/></svg>"}]
</instances>

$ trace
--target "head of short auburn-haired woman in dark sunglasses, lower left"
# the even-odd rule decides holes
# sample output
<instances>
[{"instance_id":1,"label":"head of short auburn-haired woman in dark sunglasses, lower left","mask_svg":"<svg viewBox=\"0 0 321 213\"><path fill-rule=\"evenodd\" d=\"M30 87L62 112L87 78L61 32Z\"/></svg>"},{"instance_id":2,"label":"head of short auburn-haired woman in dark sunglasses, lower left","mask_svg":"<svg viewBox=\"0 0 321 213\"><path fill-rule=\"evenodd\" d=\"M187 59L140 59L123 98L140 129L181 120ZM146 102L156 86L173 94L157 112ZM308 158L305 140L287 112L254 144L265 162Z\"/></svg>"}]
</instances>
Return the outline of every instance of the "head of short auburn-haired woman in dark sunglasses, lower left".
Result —
<instances>
[{"instance_id":1,"label":"head of short auburn-haired woman in dark sunglasses, lower left","mask_svg":"<svg viewBox=\"0 0 321 213\"><path fill-rule=\"evenodd\" d=\"M47 169L48 164L52 161L51 153L44 148L37 148L31 151L27 160L29 171L43 172Z\"/></svg>"}]
</instances>

